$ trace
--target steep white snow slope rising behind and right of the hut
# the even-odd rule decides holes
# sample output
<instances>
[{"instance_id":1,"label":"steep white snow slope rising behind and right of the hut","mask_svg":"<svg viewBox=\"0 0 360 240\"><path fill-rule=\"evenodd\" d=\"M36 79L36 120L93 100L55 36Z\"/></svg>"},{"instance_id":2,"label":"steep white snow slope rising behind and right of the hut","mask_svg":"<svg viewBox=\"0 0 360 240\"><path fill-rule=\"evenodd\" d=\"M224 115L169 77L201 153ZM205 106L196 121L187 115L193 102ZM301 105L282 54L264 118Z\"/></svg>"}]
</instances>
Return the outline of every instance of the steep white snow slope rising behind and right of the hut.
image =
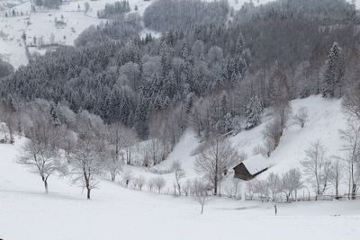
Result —
<instances>
[{"instance_id":1,"label":"steep white snow slope rising behind and right of the hut","mask_svg":"<svg viewBox=\"0 0 360 240\"><path fill-rule=\"evenodd\" d=\"M279 147L267 158L272 165L266 172L259 175L259 179L265 179L269 173L285 173L291 168L302 170L301 161L306 158L305 150L312 143L320 140L326 149L326 157L344 156L341 151L344 142L341 140L339 130L347 129L347 117L341 109L341 100L325 100L320 95L291 102L293 114L301 107L309 112L309 121L304 129L297 125L290 125L280 140ZM262 143L262 130L266 126L267 119L263 120L256 129L242 132L232 139L234 147L244 151L247 156L253 156L253 149ZM229 182L230 183L230 182ZM311 190L311 185L307 184ZM341 194L347 193L347 183L340 183ZM327 194L335 194L333 188L329 188Z\"/></svg>"}]
</instances>

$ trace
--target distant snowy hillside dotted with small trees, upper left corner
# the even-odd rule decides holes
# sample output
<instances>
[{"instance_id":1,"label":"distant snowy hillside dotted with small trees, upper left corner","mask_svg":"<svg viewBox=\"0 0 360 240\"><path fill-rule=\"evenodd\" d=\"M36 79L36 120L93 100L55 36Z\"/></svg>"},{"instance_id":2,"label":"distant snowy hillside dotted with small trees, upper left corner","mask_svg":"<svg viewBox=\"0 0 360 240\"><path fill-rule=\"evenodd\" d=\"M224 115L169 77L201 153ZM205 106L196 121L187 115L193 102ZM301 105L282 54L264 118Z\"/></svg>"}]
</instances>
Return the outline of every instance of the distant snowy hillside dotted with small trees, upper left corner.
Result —
<instances>
[{"instance_id":1,"label":"distant snowy hillside dotted with small trees, upper left corner","mask_svg":"<svg viewBox=\"0 0 360 240\"><path fill-rule=\"evenodd\" d=\"M115 1L65 1L58 10L43 9L35 13L31 12L29 1L17 1L17 5L12 4L14 7L4 11L0 9L0 56L17 68L28 63L25 45L30 53L39 54L45 53L54 44L74 45L74 40L82 31L103 22L97 18L97 11ZM86 13L85 3L89 4ZM129 3L131 12L135 12L137 5L137 13L140 14L151 4L150 1L141 0L130 0ZM25 41L23 36L26 36ZM40 48L40 45L47 47Z\"/></svg>"}]
</instances>

